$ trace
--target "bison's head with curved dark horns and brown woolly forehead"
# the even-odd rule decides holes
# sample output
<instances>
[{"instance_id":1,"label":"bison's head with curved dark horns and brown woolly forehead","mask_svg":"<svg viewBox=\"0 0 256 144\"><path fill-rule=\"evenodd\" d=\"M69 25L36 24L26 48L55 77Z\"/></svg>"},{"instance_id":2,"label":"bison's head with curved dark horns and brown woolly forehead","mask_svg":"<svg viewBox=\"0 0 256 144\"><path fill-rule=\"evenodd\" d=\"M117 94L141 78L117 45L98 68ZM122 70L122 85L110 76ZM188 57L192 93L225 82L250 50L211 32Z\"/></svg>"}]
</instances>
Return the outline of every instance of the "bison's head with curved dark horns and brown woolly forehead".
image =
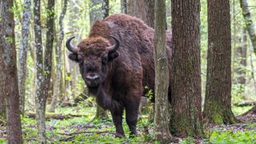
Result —
<instances>
[{"instance_id":1,"label":"bison's head with curved dark horns and brown woolly forehead","mask_svg":"<svg viewBox=\"0 0 256 144\"><path fill-rule=\"evenodd\" d=\"M83 39L78 46L72 46L70 41L73 38L66 40L66 47L72 52L69 58L79 63L80 73L86 86L91 93L96 93L106 80L110 62L118 58L118 38L110 36L114 39L114 45L111 45L110 40L106 38L92 37Z\"/></svg>"}]
</instances>

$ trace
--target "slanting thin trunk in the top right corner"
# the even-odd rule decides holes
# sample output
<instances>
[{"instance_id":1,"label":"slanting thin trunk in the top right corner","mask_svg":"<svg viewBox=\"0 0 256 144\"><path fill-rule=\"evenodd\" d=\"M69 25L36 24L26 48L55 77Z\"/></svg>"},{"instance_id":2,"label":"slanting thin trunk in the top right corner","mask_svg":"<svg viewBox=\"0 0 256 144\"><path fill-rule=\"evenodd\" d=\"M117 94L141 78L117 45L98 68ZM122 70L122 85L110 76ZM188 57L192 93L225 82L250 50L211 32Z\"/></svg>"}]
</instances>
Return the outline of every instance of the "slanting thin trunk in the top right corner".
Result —
<instances>
[{"instance_id":1,"label":"slanting thin trunk in the top right corner","mask_svg":"<svg viewBox=\"0 0 256 144\"><path fill-rule=\"evenodd\" d=\"M250 14L247 0L240 0L240 6L242 8L242 16L246 23L246 29L250 36L250 42L254 48L254 54L256 54L256 32L254 30L254 22Z\"/></svg>"}]
</instances>

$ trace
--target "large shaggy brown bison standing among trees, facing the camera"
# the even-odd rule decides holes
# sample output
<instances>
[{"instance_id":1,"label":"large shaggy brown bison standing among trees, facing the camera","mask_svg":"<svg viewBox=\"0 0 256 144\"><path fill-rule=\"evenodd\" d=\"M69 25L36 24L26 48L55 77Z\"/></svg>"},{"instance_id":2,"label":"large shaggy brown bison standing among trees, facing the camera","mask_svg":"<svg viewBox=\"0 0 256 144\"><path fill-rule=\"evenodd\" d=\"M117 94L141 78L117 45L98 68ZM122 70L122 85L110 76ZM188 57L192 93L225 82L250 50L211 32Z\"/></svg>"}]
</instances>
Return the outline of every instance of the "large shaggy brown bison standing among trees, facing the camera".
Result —
<instances>
[{"instance_id":1,"label":"large shaggy brown bison standing among trees, facing the camera","mask_svg":"<svg viewBox=\"0 0 256 144\"><path fill-rule=\"evenodd\" d=\"M154 29L126 14L113 14L94 22L88 38L77 46L66 40L69 58L78 62L80 73L96 102L110 110L116 134L124 136L122 114L130 134L136 124L141 96L146 86L154 90ZM166 31L166 52L171 60L171 33ZM169 86L170 87L170 86ZM148 89L147 89L148 90ZM169 88L170 101L170 88Z\"/></svg>"}]
</instances>

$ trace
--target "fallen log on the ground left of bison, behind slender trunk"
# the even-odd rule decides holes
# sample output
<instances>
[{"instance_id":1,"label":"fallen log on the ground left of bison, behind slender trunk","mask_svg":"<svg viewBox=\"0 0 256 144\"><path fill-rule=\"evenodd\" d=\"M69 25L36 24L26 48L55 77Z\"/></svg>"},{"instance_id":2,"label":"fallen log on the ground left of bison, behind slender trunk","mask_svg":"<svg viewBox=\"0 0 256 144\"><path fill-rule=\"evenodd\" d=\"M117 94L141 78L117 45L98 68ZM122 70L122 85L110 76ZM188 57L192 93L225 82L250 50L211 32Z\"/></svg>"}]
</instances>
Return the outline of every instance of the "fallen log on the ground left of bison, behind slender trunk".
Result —
<instances>
[{"instance_id":1,"label":"fallen log on the ground left of bison, behind slender trunk","mask_svg":"<svg viewBox=\"0 0 256 144\"><path fill-rule=\"evenodd\" d=\"M34 113L26 113L26 117L28 118L35 118L36 114ZM83 117L85 115L78 115L78 114L46 114L46 119L68 119L68 118L75 118L75 117Z\"/></svg>"}]
</instances>

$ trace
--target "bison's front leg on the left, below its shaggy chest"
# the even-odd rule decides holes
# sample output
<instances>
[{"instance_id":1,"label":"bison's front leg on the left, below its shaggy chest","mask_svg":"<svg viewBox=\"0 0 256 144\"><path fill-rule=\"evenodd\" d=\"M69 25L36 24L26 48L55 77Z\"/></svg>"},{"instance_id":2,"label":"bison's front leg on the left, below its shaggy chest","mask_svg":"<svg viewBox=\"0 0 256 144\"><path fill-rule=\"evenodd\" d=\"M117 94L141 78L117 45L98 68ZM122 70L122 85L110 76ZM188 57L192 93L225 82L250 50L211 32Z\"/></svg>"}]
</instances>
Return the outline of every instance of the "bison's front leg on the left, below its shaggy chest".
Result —
<instances>
[{"instance_id":1,"label":"bison's front leg on the left, below its shaggy chest","mask_svg":"<svg viewBox=\"0 0 256 144\"><path fill-rule=\"evenodd\" d=\"M119 107L118 109L113 109L110 110L112 118L113 118L113 122L114 122L114 126L116 128L116 136L117 137L123 137L125 136L125 133L122 129L122 113L123 113L123 107Z\"/></svg>"}]
</instances>

